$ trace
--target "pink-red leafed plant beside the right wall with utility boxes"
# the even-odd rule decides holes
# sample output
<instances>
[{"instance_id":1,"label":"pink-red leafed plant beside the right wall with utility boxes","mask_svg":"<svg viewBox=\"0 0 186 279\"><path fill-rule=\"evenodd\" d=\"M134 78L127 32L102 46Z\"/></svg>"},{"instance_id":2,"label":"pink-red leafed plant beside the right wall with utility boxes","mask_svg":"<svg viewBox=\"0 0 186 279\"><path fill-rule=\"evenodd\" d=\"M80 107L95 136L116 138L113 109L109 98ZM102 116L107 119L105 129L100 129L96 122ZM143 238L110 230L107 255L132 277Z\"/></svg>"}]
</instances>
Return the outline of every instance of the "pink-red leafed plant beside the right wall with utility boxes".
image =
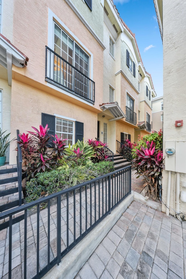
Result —
<instances>
[{"instance_id":1,"label":"pink-red leafed plant beside the right wall with utility boxes","mask_svg":"<svg viewBox=\"0 0 186 279\"><path fill-rule=\"evenodd\" d=\"M147 141L146 145L146 148L141 146L140 149L135 150L136 156L133 164L137 174L144 176L146 180L144 187L146 185L150 187L152 198L155 200L157 197L158 177L164 169L163 152L160 149L155 149L155 143L153 141L151 143Z\"/></svg>"}]
</instances>

